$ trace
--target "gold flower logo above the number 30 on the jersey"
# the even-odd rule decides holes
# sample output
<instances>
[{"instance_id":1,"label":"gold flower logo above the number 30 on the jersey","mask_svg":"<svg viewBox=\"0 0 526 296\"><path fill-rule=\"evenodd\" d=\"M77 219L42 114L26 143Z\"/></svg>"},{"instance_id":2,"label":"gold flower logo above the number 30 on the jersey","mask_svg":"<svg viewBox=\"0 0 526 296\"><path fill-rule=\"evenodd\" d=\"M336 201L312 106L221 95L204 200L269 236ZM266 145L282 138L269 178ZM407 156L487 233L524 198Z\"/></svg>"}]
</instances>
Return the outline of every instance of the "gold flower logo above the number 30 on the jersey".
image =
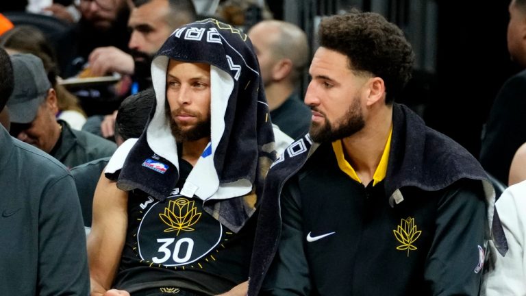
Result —
<instances>
[{"instance_id":1,"label":"gold flower logo above the number 30 on the jersey","mask_svg":"<svg viewBox=\"0 0 526 296\"><path fill-rule=\"evenodd\" d=\"M168 206L164 208L164 214L159 214L160 219L169 227L164 232L177 231L176 236L182 231L194 231L191 227L201 217L197 212L195 201L189 201L185 198L179 198L175 201L169 201Z\"/></svg>"}]
</instances>

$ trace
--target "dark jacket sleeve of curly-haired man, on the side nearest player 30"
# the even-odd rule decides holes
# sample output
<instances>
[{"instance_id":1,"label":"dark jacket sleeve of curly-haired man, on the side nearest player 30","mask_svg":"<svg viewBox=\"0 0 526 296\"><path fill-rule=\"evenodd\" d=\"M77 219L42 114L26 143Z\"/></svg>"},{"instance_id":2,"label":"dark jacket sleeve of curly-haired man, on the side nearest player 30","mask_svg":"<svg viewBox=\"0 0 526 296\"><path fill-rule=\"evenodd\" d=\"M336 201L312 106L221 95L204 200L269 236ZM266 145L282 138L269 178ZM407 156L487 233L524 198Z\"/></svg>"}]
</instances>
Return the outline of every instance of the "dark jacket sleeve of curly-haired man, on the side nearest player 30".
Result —
<instances>
[{"instance_id":1,"label":"dark jacket sleeve of curly-haired man, on the side nearest player 30","mask_svg":"<svg viewBox=\"0 0 526 296\"><path fill-rule=\"evenodd\" d=\"M260 295L310 295L304 251L299 189L288 184L281 193L281 238Z\"/></svg>"}]
</instances>

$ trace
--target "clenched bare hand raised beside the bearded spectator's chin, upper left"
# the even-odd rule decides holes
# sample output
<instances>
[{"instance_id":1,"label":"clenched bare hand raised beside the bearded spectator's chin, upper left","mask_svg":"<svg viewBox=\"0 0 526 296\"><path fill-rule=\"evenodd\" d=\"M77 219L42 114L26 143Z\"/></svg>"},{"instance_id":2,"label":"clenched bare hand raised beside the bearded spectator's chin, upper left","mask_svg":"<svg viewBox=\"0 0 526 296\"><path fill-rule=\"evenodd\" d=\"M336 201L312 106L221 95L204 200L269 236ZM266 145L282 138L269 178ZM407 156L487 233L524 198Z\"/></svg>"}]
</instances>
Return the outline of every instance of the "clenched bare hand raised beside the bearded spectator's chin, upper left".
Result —
<instances>
[{"instance_id":1,"label":"clenched bare hand raised beside the bearded spectator's chin, upper left","mask_svg":"<svg viewBox=\"0 0 526 296\"><path fill-rule=\"evenodd\" d=\"M134 58L116 47L97 47L90 53L88 61L93 76L112 72L132 75L135 70Z\"/></svg>"}]
</instances>

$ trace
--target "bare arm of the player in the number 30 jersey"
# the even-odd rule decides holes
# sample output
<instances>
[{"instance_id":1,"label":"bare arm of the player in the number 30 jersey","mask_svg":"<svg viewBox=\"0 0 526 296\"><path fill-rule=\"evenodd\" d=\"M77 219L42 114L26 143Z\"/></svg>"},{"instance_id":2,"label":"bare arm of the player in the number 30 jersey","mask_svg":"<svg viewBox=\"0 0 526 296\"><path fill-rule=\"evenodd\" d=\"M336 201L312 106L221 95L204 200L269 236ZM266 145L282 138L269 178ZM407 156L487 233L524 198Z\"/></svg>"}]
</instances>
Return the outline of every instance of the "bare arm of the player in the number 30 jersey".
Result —
<instances>
[{"instance_id":1,"label":"bare arm of the player in the number 30 jersey","mask_svg":"<svg viewBox=\"0 0 526 296\"><path fill-rule=\"evenodd\" d=\"M127 200L127 193L103 173L95 189L88 236L91 295L104 295L112 286L125 243Z\"/></svg>"}]
</instances>

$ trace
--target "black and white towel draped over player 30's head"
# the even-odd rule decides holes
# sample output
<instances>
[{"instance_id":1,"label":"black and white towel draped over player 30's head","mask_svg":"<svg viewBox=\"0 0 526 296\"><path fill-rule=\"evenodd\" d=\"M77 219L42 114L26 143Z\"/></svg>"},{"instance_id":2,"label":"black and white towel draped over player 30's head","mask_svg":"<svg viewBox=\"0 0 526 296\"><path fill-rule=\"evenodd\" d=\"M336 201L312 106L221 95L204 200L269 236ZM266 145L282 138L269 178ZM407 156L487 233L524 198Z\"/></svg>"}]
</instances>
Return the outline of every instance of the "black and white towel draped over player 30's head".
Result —
<instances>
[{"instance_id":1,"label":"black and white towel draped over player 30's head","mask_svg":"<svg viewBox=\"0 0 526 296\"><path fill-rule=\"evenodd\" d=\"M275 145L258 60L247 35L231 25L212 18L184 25L158 51L151 65L157 103L117 186L163 200L177 183L176 139L164 111L170 59L211 65L211 141L181 194L205 201L207 212L237 232L255 211Z\"/></svg>"}]
</instances>

